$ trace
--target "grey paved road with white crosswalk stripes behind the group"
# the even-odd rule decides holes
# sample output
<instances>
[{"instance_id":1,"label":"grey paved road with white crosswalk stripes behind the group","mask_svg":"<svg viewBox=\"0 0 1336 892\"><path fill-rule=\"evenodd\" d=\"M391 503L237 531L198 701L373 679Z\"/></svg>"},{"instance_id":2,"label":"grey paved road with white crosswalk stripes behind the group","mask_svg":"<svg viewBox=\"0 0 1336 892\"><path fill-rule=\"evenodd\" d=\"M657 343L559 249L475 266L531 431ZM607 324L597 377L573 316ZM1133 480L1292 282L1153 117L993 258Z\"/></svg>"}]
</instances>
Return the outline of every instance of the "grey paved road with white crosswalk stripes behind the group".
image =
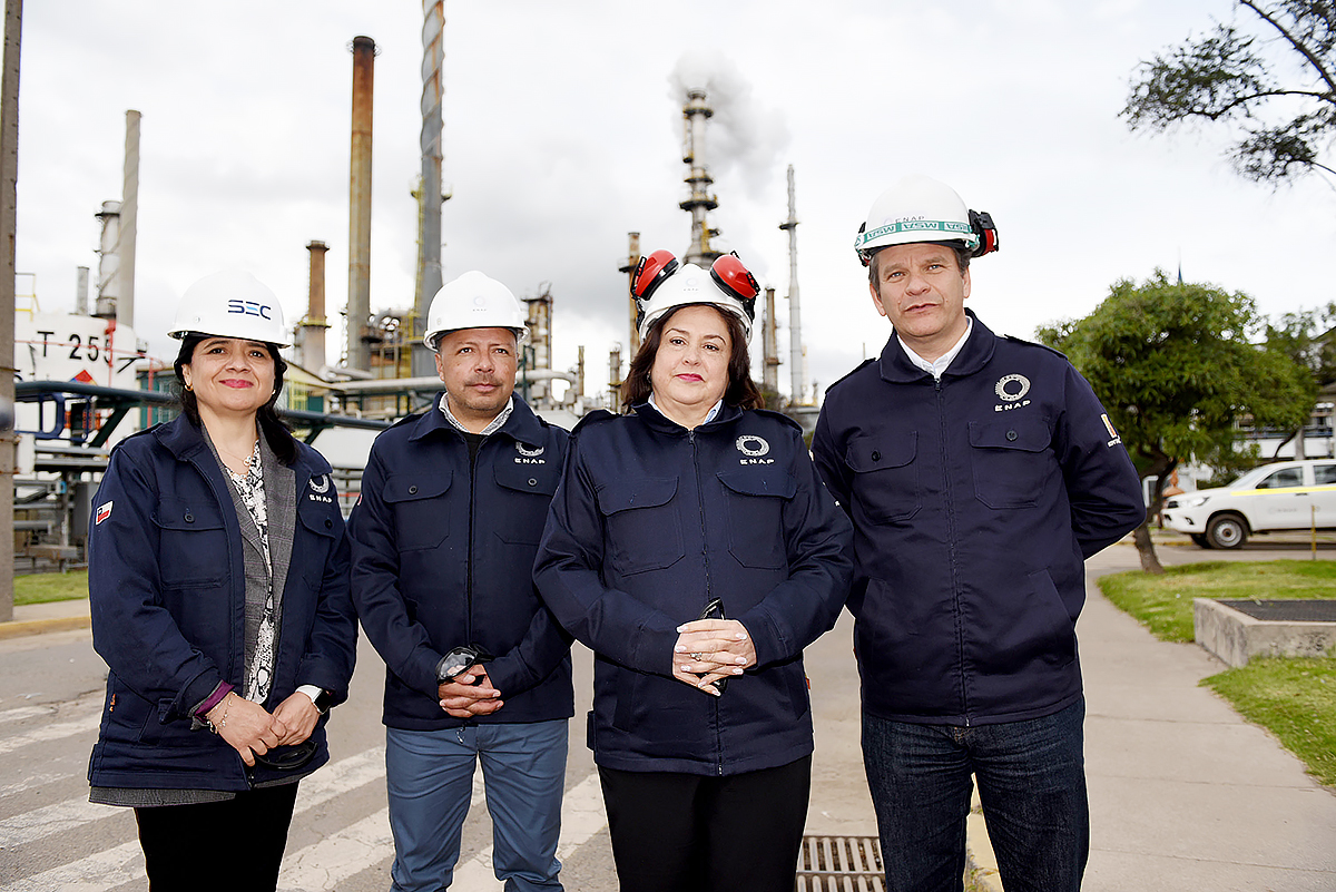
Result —
<instances>
[{"instance_id":1,"label":"grey paved road with white crosswalk stripes behind the group","mask_svg":"<svg viewBox=\"0 0 1336 892\"><path fill-rule=\"evenodd\" d=\"M808 832L872 836L858 750L858 674L850 620L808 652L818 757ZM558 856L568 889L612 892L616 876L593 760L584 744L592 658L576 650L566 799ZM0 892L143 891L143 856L127 809L87 801L106 666L87 632L0 641ZM393 856L385 811L383 664L365 640L347 704L330 725L331 764L302 783L281 889L382 891ZM480 773L481 777L481 773ZM481 784L454 888L500 889Z\"/></svg>"}]
</instances>

